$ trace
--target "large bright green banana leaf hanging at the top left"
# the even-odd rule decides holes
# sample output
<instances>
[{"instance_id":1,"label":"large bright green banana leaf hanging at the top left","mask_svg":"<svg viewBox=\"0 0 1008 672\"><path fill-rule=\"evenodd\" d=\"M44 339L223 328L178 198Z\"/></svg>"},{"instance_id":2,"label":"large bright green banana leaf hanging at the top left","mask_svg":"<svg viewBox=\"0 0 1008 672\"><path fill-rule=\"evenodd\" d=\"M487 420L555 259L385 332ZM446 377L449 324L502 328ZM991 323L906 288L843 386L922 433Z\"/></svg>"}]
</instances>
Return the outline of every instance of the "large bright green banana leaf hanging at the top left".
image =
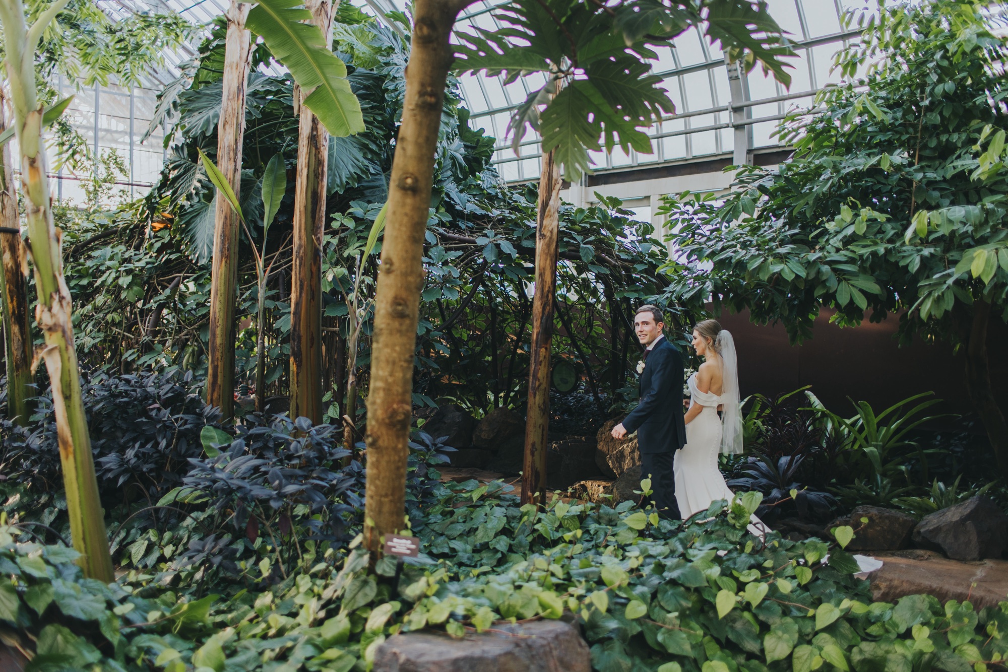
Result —
<instances>
[{"instance_id":1,"label":"large bright green banana leaf hanging at the top left","mask_svg":"<svg viewBox=\"0 0 1008 672\"><path fill-rule=\"evenodd\" d=\"M304 92L304 105L332 135L364 130L361 104L350 89L347 66L333 53L311 12L298 0L259 0L246 26L266 42ZM305 23L304 21L308 21Z\"/></svg>"}]
</instances>

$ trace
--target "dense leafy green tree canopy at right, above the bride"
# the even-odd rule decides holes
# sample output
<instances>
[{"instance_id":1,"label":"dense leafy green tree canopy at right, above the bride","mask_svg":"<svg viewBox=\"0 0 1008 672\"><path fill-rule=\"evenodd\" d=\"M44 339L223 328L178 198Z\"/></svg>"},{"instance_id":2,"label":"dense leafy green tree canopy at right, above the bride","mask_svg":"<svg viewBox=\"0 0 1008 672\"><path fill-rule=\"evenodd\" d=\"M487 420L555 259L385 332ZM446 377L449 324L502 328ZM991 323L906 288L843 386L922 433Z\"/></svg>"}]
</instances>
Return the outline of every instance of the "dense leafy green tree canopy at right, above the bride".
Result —
<instances>
[{"instance_id":1,"label":"dense leafy green tree canopy at right, above the bride","mask_svg":"<svg viewBox=\"0 0 1008 672\"><path fill-rule=\"evenodd\" d=\"M792 158L743 167L722 201L668 199L669 298L749 308L792 341L823 305L842 325L906 310L905 338L954 342L978 301L1008 309L1005 39L972 0L898 4L859 25L861 45L836 61L847 82L820 95L823 112L783 123Z\"/></svg>"}]
</instances>

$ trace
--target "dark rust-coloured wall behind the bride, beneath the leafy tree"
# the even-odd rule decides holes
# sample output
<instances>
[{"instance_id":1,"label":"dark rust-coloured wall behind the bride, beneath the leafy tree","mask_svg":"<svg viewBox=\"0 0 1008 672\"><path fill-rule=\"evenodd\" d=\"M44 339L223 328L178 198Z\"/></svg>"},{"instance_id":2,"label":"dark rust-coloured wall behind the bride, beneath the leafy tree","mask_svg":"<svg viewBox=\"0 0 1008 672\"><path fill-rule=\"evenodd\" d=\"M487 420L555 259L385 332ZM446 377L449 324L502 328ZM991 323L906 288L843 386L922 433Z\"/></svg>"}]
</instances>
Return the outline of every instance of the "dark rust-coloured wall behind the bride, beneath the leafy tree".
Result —
<instances>
[{"instance_id":1,"label":"dark rust-coloured wall behind the bride, beneath the leafy tree","mask_svg":"<svg viewBox=\"0 0 1008 672\"><path fill-rule=\"evenodd\" d=\"M780 324L760 326L749 312L723 314L722 326L735 337L739 387L743 397L754 392L773 395L811 385L812 392L838 413L853 411L847 397L868 401L876 411L919 392L933 391L946 400L942 410L967 413L971 405L963 378L963 356L944 343L914 339L899 348L893 338L898 317L879 323L840 328L823 310L812 339L791 347ZM994 318L988 332L991 377L1002 408L1008 408L1008 327ZM851 413L853 414L853 412Z\"/></svg>"}]
</instances>

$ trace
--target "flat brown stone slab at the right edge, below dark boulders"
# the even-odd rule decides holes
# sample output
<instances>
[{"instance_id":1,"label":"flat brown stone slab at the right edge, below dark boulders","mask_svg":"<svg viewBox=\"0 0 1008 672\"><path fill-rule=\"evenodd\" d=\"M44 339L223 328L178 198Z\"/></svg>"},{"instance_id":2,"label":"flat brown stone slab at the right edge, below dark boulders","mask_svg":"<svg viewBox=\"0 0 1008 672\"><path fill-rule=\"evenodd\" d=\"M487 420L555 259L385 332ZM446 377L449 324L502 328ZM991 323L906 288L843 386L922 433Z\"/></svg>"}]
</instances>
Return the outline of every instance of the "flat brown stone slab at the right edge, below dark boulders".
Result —
<instances>
[{"instance_id":1,"label":"flat brown stone slab at the right edge, below dark boulders","mask_svg":"<svg viewBox=\"0 0 1008 672\"><path fill-rule=\"evenodd\" d=\"M925 550L877 556L882 568L868 575L872 599L896 601L906 595L929 594L944 603L969 599L974 609L996 608L1008 594L1008 562L959 562Z\"/></svg>"}]
</instances>

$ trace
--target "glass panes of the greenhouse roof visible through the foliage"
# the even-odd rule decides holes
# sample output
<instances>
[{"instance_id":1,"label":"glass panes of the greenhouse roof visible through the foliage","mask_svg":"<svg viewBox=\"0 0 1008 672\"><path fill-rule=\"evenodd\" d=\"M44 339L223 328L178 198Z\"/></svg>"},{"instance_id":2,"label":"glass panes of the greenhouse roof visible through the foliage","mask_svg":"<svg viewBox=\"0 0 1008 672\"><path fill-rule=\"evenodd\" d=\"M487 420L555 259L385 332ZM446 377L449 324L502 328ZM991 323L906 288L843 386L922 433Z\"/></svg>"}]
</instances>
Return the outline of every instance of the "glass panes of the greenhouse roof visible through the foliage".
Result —
<instances>
[{"instance_id":1,"label":"glass panes of the greenhouse roof visible through the foliage","mask_svg":"<svg viewBox=\"0 0 1008 672\"><path fill-rule=\"evenodd\" d=\"M364 11L382 16L386 12L404 9L402 0L358 0ZM205 26L224 13L227 0L97 0L111 17L124 17L137 11L175 11L198 26ZM494 10L500 0L478 0L457 23L457 30L473 27L496 29L502 25ZM830 71L833 55L857 33L844 32L840 17L848 9L868 7L865 0L770 0L770 13L797 44L793 59L792 83L785 90L759 69L741 77L734 66L726 63L724 54L704 40L696 30L674 40L674 48L659 47L654 71L664 78L669 96L675 103L675 114L664 119L648 132L653 138L654 152L629 154L616 148L611 154L598 152L593 156L598 181L604 173L626 173L626 179L643 170L652 174L661 166L703 163L722 160L723 163L759 162L760 152L766 154L779 148L772 132L777 122L793 107L807 107L814 93L837 81ZM74 123L100 153L116 149L129 166L129 176L121 180L131 195L139 195L156 178L163 161L162 143L168 128L154 129L144 141L149 120L153 116L156 95L178 76L177 64L196 55L195 44L167 54L168 64L153 73L144 87L132 89L96 87L94 94L79 93L71 109ZM534 135L526 135L517 151L505 137L512 109L525 100L530 91L542 85L541 75L520 78L506 85L501 77L466 75L462 90L467 107L472 112L473 125L486 129L498 139L494 163L507 181L527 181L539 176L540 145ZM73 88L72 83L61 86ZM767 159L764 162L774 162ZM713 164L712 164L713 165ZM717 166L715 166L717 167ZM57 177L60 197L80 196L75 176L62 171ZM614 174L612 179L619 179Z\"/></svg>"}]
</instances>

